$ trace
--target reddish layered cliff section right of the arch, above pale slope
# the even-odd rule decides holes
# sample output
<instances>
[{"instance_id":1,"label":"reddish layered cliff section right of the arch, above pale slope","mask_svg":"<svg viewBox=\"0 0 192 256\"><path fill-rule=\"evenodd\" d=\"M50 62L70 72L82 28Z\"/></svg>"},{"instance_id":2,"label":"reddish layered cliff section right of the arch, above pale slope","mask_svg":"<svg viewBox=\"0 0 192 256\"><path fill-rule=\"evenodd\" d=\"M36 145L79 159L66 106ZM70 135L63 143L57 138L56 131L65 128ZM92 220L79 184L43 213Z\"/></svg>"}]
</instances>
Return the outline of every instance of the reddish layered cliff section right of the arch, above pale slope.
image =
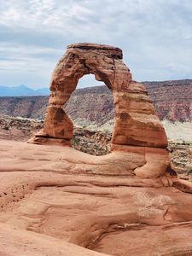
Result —
<instances>
[{"instance_id":1,"label":"reddish layered cliff section right of the arch, above pale slope","mask_svg":"<svg viewBox=\"0 0 192 256\"><path fill-rule=\"evenodd\" d=\"M192 120L192 80L144 82L154 108L162 119L172 122Z\"/></svg>"}]
</instances>

